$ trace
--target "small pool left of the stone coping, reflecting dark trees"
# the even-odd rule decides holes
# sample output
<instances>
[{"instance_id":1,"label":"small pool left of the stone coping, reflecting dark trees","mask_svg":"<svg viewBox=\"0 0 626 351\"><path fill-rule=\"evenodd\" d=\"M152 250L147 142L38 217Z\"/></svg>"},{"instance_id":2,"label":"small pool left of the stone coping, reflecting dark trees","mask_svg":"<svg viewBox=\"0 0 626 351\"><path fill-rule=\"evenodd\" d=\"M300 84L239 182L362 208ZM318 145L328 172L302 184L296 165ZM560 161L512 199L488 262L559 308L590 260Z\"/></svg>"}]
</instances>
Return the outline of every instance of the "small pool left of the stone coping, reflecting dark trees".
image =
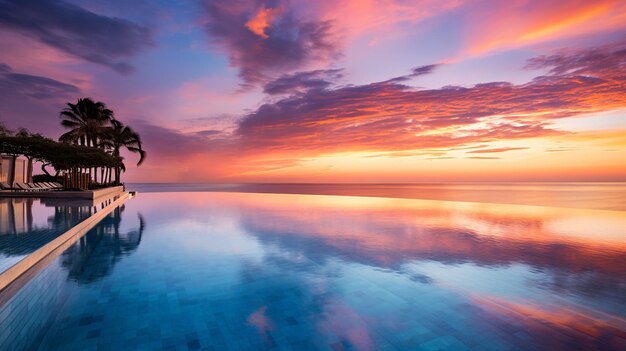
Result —
<instances>
[{"instance_id":1,"label":"small pool left of the stone coping, reflecting dark trees","mask_svg":"<svg viewBox=\"0 0 626 351\"><path fill-rule=\"evenodd\" d=\"M0 198L0 273L97 210L93 200Z\"/></svg>"}]
</instances>

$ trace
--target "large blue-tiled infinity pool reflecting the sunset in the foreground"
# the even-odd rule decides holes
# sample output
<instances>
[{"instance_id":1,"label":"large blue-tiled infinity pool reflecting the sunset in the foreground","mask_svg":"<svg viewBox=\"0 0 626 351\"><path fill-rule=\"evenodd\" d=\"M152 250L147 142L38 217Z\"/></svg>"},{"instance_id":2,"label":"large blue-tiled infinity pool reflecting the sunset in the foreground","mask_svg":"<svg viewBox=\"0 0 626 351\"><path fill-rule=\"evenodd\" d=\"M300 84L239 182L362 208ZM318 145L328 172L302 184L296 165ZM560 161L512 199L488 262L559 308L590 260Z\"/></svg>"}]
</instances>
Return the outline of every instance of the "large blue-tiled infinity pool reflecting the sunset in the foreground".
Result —
<instances>
[{"instance_id":1,"label":"large blue-tiled infinity pool reflecting the sunset in the foreground","mask_svg":"<svg viewBox=\"0 0 626 351\"><path fill-rule=\"evenodd\" d=\"M2 350L626 349L626 212L140 194L0 294Z\"/></svg>"}]
</instances>

